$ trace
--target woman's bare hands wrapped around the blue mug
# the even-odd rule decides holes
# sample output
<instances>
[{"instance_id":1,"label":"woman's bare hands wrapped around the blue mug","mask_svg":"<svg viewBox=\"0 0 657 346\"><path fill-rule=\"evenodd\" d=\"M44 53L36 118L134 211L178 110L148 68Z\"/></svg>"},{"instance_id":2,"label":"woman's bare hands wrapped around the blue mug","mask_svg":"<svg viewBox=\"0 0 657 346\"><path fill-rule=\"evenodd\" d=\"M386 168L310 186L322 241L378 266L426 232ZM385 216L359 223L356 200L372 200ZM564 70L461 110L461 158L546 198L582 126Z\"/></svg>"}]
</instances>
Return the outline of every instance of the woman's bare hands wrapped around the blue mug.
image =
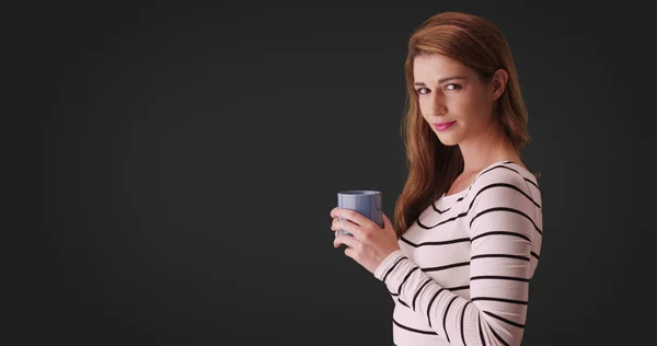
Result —
<instances>
[{"instance_id":1,"label":"woman's bare hands wrapped around the blue mug","mask_svg":"<svg viewBox=\"0 0 657 346\"><path fill-rule=\"evenodd\" d=\"M388 255L400 250L396 233L385 214L383 214L383 228L351 209L334 208L331 210L331 217L334 219L331 230L334 232L345 230L354 234L335 237L333 247L339 247L339 244L347 245L345 254L372 274Z\"/></svg>"}]
</instances>

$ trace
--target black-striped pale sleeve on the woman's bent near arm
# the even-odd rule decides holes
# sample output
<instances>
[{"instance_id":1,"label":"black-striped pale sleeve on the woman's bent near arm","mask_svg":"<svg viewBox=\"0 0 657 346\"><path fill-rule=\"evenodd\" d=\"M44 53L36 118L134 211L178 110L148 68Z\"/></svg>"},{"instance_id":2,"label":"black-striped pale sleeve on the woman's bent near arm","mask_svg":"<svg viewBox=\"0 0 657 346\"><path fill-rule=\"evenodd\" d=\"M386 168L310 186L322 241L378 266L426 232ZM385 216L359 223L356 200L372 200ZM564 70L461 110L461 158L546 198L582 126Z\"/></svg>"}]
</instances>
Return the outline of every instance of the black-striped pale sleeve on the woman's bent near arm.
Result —
<instances>
[{"instance_id":1,"label":"black-striped pale sleeve on the woman's bent near arm","mask_svg":"<svg viewBox=\"0 0 657 346\"><path fill-rule=\"evenodd\" d=\"M542 237L541 207L518 174L481 182L473 192L464 216L471 243L470 299L440 286L401 250L374 276L452 345L519 345L529 280L538 263L532 242L540 247Z\"/></svg>"}]
</instances>

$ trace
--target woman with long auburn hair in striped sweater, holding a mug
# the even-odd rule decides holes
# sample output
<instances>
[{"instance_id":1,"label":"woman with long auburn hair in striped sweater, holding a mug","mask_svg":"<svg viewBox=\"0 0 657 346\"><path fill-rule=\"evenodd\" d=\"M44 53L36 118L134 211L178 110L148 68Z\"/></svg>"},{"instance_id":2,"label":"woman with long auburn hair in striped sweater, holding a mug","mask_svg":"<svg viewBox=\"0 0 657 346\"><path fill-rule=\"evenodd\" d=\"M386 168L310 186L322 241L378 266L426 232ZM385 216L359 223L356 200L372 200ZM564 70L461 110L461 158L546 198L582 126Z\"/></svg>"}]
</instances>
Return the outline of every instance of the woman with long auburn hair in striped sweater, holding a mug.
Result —
<instances>
[{"instance_id":1,"label":"woman with long auburn hair in striped sweater, holding a mug","mask_svg":"<svg viewBox=\"0 0 657 346\"><path fill-rule=\"evenodd\" d=\"M439 13L410 38L405 74L395 222L335 208L331 229L354 235L334 246L388 287L395 345L519 345L543 222L508 44L482 18Z\"/></svg>"}]
</instances>

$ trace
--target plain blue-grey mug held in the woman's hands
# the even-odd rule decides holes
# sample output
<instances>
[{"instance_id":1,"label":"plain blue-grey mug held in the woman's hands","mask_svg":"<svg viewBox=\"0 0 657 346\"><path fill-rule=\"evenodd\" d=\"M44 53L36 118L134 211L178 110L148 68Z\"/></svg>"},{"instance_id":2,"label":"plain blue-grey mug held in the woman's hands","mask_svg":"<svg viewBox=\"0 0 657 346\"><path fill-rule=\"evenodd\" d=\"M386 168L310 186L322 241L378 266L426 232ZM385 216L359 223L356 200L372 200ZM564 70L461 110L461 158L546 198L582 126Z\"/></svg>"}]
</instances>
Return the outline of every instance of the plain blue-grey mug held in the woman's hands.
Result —
<instances>
[{"instance_id":1,"label":"plain blue-grey mug held in the woman's hands","mask_svg":"<svg viewBox=\"0 0 657 346\"><path fill-rule=\"evenodd\" d=\"M355 210L383 228L383 207L381 192L368 189L343 191L337 193L337 207ZM337 218L342 220L342 218ZM337 230L337 235L354 235L345 230Z\"/></svg>"}]
</instances>

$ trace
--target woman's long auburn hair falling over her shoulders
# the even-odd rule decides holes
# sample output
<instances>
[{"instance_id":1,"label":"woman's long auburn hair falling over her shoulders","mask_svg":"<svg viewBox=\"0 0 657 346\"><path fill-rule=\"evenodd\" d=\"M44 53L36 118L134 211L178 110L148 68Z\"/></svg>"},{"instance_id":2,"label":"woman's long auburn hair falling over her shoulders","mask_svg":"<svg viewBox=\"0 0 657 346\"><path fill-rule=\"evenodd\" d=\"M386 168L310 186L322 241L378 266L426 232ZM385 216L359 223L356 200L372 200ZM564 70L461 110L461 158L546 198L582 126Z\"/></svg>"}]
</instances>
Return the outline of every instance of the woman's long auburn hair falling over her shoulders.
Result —
<instances>
[{"instance_id":1,"label":"woman's long auburn hair falling over her shoulders","mask_svg":"<svg viewBox=\"0 0 657 346\"><path fill-rule=\"evenodd\" d=\"M394 209L393 227L397 238L463 171L459 146L442 145L419 111L413 86L413 61L425 54L441 54L456 59L475 70L484 82L488 82L497 69L506 70L508 81L496 101L494 119L505 129L519 155L530 141L527 108L516 67L499 28L483 18L462 12L442 12L426 20L411 35L404 64L406 104L402 139L408 176Z\"/></svg>"}]
</instances>

